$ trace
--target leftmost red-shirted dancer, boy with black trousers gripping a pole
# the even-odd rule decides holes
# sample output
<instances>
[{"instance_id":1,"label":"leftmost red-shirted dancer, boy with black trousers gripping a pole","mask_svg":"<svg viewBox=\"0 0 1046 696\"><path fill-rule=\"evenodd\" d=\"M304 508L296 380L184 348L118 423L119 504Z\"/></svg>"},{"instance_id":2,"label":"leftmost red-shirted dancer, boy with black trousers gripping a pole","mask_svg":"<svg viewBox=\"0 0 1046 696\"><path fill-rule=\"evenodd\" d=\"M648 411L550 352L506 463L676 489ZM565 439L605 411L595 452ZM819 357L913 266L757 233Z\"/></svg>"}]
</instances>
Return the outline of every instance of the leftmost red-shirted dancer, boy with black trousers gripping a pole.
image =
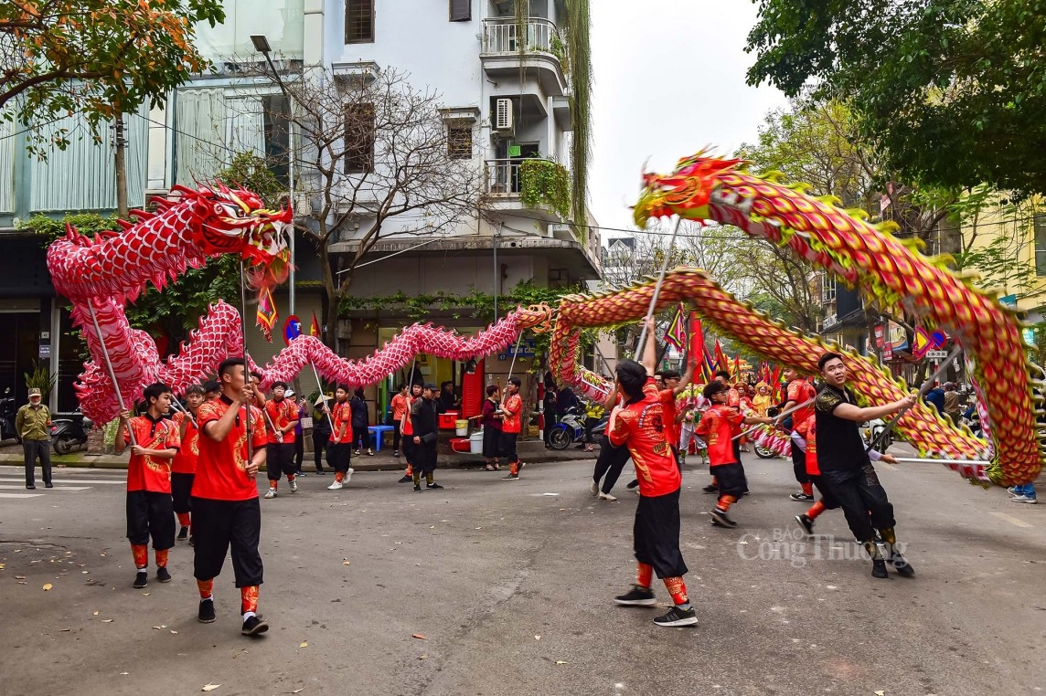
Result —
<instances>
[{"instance_id":1,"label":"leftmost red-shirted dancer, boy with black trousers gripping a pole","mask_svg":"<svg viewBox=\"0 0 1046 696\"><path fill-rule=\"evenodd\" d=\"M131 445L128 462L128 539L137 569L134 587L149 586L149 537L156 552L156 579L170 582L167 553L175 546L175 514L170 498L170 460L178 454L178 426L165 418L170 409L170 388L159 382L142 393L144 415L120 412L122 427L116 431L116 454ZM132 435L134 436L132 438Z\"/></svg>"}]
</instances>

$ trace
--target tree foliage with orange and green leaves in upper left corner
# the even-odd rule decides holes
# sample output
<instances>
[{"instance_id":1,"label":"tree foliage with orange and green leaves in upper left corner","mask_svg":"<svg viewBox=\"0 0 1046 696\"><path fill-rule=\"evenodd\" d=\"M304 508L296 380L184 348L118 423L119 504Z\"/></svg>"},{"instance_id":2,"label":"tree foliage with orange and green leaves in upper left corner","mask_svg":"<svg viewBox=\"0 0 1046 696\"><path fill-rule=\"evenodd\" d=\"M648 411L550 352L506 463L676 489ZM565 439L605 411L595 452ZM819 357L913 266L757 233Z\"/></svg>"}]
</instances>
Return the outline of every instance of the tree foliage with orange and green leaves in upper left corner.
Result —
<instances>
[{"instance_id":1,"label":"tree foliage with orange and green leaves in upper left corner","mask_svg":"<svg viewBox=\"0 0 1046 696\"><path fill-rule=\"evenodd\" d=\"M30 127L79 113L97 135L103 122L162 102L202 72L208 62L192 45L192 24L224 19L222 3L207 0L5 0L0 108L14 108L0 113Z\"/></svg>"}]
</instances>

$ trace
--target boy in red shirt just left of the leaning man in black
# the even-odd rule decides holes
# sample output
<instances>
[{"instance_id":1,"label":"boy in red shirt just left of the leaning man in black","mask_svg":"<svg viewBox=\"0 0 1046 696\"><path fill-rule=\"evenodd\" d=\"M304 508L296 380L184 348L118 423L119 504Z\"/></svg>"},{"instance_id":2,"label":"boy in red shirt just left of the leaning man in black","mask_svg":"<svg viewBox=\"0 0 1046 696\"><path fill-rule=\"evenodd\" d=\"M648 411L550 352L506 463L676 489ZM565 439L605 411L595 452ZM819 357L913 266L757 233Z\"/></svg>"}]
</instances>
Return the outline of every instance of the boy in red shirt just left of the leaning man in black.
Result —
<instances>
[{"instance_id":1,"label":"boy in red shirt just left of the leaning man in black","mask_svg":"<svg viewBox=\"0 0 1046 696\"><path fill-rule=\"evenodd\" d=\"M729 391L721 381L711 381L705 387L704 397L712 402L693 428L693 434L708 445L708 468L719 484L719 501L712 509L712 524L719 527L736 527L727 511L748 490L745 469L741 465L734 437L741 434L741 425L773 424L772 418L744 416L729 405Z\"/></svg>"}]
</instances>

